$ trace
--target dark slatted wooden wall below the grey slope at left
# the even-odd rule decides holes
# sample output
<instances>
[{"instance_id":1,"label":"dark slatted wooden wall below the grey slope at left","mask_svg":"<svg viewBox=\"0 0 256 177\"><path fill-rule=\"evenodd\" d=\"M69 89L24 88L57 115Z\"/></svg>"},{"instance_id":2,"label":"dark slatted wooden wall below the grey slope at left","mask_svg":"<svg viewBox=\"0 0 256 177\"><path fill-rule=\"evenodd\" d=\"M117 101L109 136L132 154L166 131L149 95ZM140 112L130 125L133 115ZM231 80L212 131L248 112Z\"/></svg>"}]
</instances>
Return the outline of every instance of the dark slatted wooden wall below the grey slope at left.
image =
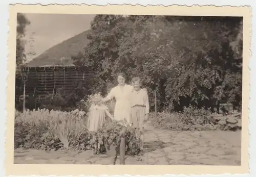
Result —
<instances>
[{"instance_id":1,"label":"dark slatted wooden wall below the grey slope at left","mask_svg":"<svg viewBox=\"0 0 256 177\"><path fill-rule=\"evenodd\" d=\"M25 97L33 95L37 101L55 94L58 89L68 93L77 87L79 81L90 77L90 71L84 72L76 66L27 67L23 72L27 73L28 80ZM16 96L23 100L23 95Z\"/></svg>"}]
</instances>

